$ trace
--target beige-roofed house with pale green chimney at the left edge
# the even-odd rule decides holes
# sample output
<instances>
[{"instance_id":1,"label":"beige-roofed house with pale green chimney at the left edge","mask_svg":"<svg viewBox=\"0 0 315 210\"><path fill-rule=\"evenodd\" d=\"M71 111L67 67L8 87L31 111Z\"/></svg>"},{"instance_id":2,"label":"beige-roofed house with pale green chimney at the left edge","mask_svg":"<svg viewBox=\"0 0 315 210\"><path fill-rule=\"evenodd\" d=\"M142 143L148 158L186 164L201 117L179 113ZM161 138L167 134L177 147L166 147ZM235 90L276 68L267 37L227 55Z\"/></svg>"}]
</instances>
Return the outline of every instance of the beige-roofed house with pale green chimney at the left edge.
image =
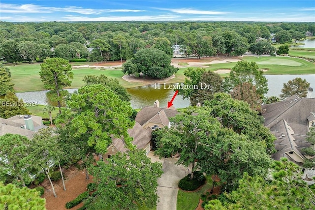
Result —
<instances>
[{"instance_id":1,"label":"beige-roofed house with pale green chimney at the left edge","mask_svg":"<svg viewBox=\"0 0 315 210\"><path fill-rule=\"evenodd\" d=\"M31 115L16 115L8 119L0 118L0 136L11 133L26 136L29 139L41 128L43 125L42 118Z\"/></svg>"}]
</instances>

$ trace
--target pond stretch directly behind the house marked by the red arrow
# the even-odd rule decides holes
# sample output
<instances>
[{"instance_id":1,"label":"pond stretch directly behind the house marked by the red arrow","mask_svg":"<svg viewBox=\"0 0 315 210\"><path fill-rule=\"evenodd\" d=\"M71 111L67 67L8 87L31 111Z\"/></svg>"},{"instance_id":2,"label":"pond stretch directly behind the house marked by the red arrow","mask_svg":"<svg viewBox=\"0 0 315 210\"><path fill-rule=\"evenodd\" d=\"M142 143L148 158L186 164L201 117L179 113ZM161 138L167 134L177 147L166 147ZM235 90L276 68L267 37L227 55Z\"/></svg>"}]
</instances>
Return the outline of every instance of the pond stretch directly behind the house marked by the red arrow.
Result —
<instances>
[{"instance_id":1,"label":"pond stretch directly behind the house marked by the red arrow","mask_svg":"<svg viewBox=\"0 0 315 210\"><path fill-rule=\"evenodd\" d=\"M169 85L166 85L166 88L168 87ZM172 99L175 90L164 89L164 86L161 84L160 89L155 89L154 85L152 85L128 88L127 92L131 94L131 107L134 109L142 109L145 106L153 106L156 100L159 101L160 107L166 107L167 101ZM189 103L189 100L183 99L181 95L177 95L173 101L174 107L176 108L188 107Z\"/></svg>"}]
</instances>

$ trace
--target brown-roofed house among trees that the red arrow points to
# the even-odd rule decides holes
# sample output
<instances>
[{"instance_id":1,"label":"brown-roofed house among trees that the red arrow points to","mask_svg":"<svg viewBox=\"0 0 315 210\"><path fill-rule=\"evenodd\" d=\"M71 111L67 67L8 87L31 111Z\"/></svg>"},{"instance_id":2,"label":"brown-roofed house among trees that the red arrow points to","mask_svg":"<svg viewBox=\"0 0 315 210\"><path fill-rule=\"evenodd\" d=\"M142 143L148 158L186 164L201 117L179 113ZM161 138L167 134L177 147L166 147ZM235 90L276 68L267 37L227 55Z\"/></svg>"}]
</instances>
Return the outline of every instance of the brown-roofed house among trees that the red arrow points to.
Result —
<instances>
[{"instance_id":1,"label":"brown-roofed house among trees that the red arrow points to","mask_svg":"<svg viewBox=\"0 0 315 210\"><path fill-rule=\"evenodd\" d=\"M135 125L127 132L133 138L131 142L137 149L143 149L146 154L152 148L151 138L152 131L158 128L169 126L169 118L174 117L179 112L172 106L168 108L160 108L158 100L155 106L145 106L137 113ZM110 157L117 152L126 152L126 144L121 138L113 138L112 144L108 147L104 158Z\"/></svg>"}]
</instances>

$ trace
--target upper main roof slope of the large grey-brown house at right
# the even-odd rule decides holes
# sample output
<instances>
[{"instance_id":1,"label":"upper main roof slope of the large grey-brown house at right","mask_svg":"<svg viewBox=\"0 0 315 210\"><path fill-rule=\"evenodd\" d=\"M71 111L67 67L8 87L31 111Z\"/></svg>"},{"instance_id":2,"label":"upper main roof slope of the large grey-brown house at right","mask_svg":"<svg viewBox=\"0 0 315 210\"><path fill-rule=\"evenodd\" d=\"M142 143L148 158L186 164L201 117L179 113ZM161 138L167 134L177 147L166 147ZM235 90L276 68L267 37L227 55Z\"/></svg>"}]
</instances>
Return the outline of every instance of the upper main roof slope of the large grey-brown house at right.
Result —
<instances>
[{"instance_id":1,"label":"upper main roof slope of the large grey-brown house at right","mask_svg":"<svg viewBox=\"0 0 315 210\"><path fill-rule=\"evenodd\" d=\"M296 98L261 106L265 126L272 128L281 120L290 123L296 134L306 134L307 118L315 112L314 98Z\"/></svg>"}]
</instances>

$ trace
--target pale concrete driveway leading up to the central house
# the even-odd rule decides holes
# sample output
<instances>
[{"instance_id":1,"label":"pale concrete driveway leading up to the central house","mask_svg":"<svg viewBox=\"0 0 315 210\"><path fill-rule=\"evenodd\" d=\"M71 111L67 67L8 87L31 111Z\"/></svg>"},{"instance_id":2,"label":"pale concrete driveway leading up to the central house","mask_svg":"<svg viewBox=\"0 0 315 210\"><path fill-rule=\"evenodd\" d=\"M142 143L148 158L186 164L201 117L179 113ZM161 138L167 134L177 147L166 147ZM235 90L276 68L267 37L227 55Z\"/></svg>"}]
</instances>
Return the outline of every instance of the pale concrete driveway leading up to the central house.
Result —
<instances>
[{"instance_id":1,"label":"pale concrete driveway leading up to the central house","mask_svg":"<svg viewBox=\"0 0 315 210\"><path fill-rule=\"evenodd\" d=\"M180 165L175 165L177 158L161 158L155 156L152 151L148 154L152 162L163 164L163 174L158 179L158 198L157 210L176 210L178 182L183 179L188 170ZM190 171L190 169L189 169Z\"/></svg>"}]
</instances>

